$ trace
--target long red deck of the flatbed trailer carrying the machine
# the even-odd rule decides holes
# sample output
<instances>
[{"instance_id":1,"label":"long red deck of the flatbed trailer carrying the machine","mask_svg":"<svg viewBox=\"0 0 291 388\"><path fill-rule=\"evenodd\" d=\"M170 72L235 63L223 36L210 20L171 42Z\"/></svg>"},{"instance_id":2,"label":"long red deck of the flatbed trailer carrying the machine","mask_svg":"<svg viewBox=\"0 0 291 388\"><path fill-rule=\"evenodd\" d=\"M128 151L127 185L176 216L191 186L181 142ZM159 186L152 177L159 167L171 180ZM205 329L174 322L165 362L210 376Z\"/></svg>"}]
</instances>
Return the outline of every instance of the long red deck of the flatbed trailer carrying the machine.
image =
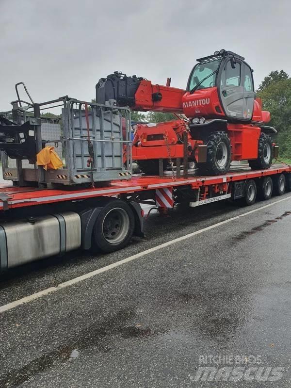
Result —
<instances>
[{"instance_id":1,"label":"long red deck of the flatbed trailer carrying the machine","mask_svg":"<svg viewBox=\"0 0 291 388\"><path fill-rule=\"evenodd\" d=\"M113 181L108 185L97 188L64 186L62 189L39 189L36 187L17 187L5 183L0 186L0 210L4 208L23 208L38 204L74 201L100 196L131 194L147 190L174 188L176 186L191 186L192 189L199 189L201 186L254 179L286 172L291 172L291 166L281 163L272 165L268 170L256 171L251 170L248 165L235 166L235 168L232 168L227 174L222 176L197 176L194 172L193 175L189 174L189 177L186 179L177 178L172 175L166 175L162 178L136 175L130 180Z\"/></svg>"}]
</instances>

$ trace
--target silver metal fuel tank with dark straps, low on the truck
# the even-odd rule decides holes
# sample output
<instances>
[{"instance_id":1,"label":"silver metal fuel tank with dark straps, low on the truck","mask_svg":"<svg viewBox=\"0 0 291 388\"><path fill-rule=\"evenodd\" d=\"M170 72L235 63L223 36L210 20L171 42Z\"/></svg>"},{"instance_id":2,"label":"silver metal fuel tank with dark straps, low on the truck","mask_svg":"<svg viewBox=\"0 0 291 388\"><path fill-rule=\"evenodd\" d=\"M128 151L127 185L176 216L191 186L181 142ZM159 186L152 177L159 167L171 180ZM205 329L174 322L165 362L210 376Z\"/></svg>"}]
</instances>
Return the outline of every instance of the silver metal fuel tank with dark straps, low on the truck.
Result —
<instances>
[{"instance_id":1,"label":"silver metal fuel tank with dark straps, low on the truck","mask_svg":"<svg viewBox=\"0 0 291 388\"><path fill-rule=\"evenodd\" d=\"M0 269L64 254L81 246L81 219L73 211L0 221Z\"/></svg>"}]
</instances>

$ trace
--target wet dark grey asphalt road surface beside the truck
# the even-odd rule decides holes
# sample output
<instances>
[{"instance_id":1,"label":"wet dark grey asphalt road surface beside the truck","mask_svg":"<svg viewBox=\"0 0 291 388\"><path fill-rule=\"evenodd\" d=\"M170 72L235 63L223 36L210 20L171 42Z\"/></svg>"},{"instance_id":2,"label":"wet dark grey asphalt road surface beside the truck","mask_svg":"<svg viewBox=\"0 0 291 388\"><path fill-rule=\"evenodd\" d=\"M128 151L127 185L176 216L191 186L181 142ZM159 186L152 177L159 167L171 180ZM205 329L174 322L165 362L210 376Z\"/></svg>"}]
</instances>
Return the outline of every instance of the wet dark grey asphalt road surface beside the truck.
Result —
<instances>
[{"instance_id":1,"label":"wet dark grey asphalt road surface beside the truck","mask_svg":"<svg viewBox=\"0 0 291 388\"><path fill-rule=\"evenodd\" d=\"M0 275L0 305L290 196L153 213L122 251ZM290 387L290 234L291 198L1 313L0 388ZM254 369L201 381L206 356Z\"/></svg>"}]
</instances>

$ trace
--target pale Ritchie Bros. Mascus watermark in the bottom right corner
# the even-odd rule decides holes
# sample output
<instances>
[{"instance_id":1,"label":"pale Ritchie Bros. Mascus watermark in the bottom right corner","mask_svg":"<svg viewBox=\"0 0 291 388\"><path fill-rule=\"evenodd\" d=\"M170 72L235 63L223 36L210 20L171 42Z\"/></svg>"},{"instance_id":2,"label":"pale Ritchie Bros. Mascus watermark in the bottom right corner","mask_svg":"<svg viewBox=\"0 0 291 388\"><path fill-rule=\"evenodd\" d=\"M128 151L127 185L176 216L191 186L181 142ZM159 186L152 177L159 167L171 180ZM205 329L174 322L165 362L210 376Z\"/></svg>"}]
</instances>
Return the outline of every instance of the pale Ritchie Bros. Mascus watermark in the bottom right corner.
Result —
<instances>
[{"instance_id":1,"label":"pale Ritchie Bros. Mascus watermark in the bottom right corner","mask_svg":"<svg viewBox=\"0 0 291 388\"><path fill-rule=\"evenodd\" d=\"M284 367L262 365L260 355L203 355L193 381L277 381Z\"/></svg>"}]
</instances>

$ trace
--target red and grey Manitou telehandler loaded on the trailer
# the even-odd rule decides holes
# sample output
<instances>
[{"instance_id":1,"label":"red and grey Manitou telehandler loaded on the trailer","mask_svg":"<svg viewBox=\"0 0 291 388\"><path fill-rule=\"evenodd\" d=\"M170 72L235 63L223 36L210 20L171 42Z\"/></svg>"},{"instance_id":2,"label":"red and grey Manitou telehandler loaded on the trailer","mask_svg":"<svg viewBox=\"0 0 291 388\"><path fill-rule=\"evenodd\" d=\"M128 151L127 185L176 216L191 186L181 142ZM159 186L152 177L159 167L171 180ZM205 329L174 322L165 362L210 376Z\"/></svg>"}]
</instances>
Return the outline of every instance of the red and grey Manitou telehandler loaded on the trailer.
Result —
<instances>
[{"instance_id":1,"label":"red and grey Manitou telehandler loaded on the trailer","mask_svg":"<svg viewBox=\"0 0 291 388\"><path fill-rule=\"evenodd\" d=\"M186 90L170 87L170 79L162 86L114 72L98 81L96 101L177 115L171 122L137 126L132 159L146 174L158 174L161 159L165 167L182 158L185 141L188 160L200 174L224 174L231 161L242 160L254 170L267 169L275 146L270 134L276 130L265 125L270 113L256 98L252 72L242 56L222 49L197 59Z\"/></svg>"}]
</instances>

